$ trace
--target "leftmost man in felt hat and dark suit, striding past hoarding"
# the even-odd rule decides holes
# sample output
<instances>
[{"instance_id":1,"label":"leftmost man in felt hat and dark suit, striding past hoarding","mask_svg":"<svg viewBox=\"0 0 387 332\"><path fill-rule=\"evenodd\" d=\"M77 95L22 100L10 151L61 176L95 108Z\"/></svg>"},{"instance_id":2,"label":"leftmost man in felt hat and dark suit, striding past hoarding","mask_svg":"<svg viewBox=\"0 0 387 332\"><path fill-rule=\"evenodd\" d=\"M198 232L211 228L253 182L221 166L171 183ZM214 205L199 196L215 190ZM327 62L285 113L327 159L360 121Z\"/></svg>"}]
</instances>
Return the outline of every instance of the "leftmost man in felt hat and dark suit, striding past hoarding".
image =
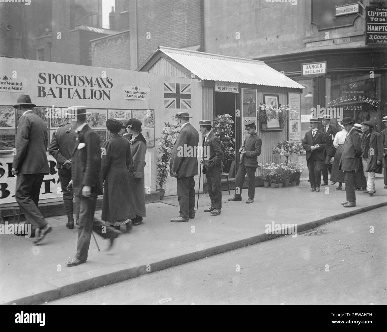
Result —
<instances>
[{"instance_id":1,"label":"leftmost man in felt hat and dark suit, striding past hoarding","mask_svg":"<svg viewBox=\"0 0 387 332\"><path fill-rule=\"evenodd\" d=\"M32 233L39 229L39 236L34 244L39 243L51 232L51 225L38 209L40 187L48 168L47 126L31 108L36 105L31 102L29 95L20 95L13 105L20 116L15 141L16 153L12 163L12 174L16 179L16 201L20 210L26 216L27 222L32 224ZM31 234L32 236L32 234Z\"/></svg>"}]
</instances>

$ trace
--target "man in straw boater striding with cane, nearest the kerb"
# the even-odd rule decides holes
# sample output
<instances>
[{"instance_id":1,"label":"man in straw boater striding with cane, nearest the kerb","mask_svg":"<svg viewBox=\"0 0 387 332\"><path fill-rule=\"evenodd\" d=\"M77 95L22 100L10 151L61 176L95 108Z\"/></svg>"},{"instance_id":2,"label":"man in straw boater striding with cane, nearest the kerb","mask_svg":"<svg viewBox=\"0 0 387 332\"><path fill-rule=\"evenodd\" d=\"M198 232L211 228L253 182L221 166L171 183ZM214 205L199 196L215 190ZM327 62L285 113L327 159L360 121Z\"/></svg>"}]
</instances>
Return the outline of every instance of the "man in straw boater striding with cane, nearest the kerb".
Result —
<instances>
[{"instance_id":1,"label":"man in straw boater striding with cane, nearest the kerb","mask_svg":"<svg viewBox=\"0 0 387 332\"><path fill-rule=\"evenodd\" d=\"M87 260L92 231L104 239L110 239L108 249L113 246L113 241L120 232L94 218L97 196L103 194L99 145L101 139L87 125L86 115L91 113L86 112L86 107L74 106L71 109L77 112L77 122L74 125L77 138L71 158L70 184L74 189L74 195L79 198L79 227L77 253L66 265L76 266Z\"/></svg>"}]
</instances>

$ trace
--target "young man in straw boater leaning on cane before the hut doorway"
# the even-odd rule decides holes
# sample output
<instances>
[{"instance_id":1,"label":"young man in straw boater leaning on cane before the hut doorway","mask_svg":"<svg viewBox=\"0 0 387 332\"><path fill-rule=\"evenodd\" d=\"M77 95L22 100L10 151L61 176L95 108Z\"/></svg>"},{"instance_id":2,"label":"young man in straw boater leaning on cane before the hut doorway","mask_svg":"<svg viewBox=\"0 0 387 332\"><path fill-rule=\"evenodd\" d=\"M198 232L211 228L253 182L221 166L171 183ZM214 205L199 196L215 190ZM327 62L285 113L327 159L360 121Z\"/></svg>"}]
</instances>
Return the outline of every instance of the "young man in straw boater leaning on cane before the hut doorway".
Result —
<instances>
[{"instance_id":1,"label":"young man in straw boater leaning on cane before the hut doorway","mask_svg":"<svg viewBox=\"0 0 387 332\"><path fill-rule=\"evenodd\" d=\"M211 120L199 121L200 132L203 138L203 174L207 177L207 189L211 198L211 206L204 212L211 212L213 215L222 212L222 169L223 150L219 137L211 132Z\"/></svg>"}]
</instances>

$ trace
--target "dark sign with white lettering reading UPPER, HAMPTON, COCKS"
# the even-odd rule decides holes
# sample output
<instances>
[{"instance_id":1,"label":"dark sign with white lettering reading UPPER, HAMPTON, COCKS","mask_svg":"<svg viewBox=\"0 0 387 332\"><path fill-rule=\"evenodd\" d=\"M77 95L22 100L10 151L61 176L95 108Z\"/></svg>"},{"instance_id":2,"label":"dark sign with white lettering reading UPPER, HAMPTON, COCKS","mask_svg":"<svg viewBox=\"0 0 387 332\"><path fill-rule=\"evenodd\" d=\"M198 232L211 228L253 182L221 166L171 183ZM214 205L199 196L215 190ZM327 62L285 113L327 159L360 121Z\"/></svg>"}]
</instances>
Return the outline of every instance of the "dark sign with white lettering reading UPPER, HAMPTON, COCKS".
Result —
<instances>
[{"instance_id":1,"label":"dark sign with white lettering reading UPPER, HAMPTON, COCKS","mask_svg":"<svg viewBox=\"0 0 387 332\"><path fill-rule=\"evenodd\" d=\"M366 7L366 45L387 45L387 8Z\"/></svg>"}]
</instances>

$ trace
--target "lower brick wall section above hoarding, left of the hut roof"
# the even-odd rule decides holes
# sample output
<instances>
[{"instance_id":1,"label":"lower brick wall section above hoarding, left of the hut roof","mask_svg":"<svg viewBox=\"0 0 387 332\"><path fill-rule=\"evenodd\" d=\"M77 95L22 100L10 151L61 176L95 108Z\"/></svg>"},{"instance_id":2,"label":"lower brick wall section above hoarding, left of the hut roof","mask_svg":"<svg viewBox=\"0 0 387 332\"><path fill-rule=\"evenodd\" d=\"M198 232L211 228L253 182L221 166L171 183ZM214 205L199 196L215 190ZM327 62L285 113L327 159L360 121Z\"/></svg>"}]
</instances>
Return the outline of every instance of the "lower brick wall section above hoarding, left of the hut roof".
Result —
<instances>
[{"instance_id":1,"label":"lower brick wall section above hoarding, left of the hut roof","mask_svg":"<svg viewBox=\"0 0 387 332\"><path fill-rule=\"evenodd\" d=\"M130 69L130 33L113 34L91 42L91 65Z\"/></svg>"}]
</instances>

